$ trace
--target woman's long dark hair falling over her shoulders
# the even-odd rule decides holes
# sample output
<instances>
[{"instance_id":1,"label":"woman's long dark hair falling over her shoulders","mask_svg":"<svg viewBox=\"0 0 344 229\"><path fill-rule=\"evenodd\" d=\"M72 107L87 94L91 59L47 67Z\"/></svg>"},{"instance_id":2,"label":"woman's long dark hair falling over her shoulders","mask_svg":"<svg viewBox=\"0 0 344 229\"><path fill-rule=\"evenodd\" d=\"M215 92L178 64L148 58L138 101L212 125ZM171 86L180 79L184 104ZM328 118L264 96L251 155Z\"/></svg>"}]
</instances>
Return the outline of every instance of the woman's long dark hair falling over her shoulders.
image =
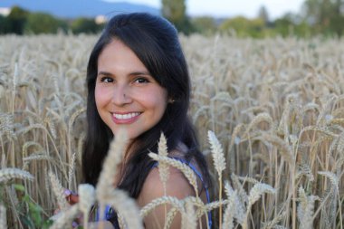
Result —
<instances>
[{"instance_id":1,"label":"woman's long dark hair falling over her shoulders","mask_svg":"<svg viewBox=\"0 0 344 229\"><path fill-rule=\"evenodd\" d=\"M190 79L177 30L162 17L134 13L112 17L91 52L87 68L88 129L82 155L85 182L96 185L102 162L113 138L111 130L100 119L94 98L98 58L100 52L113 39L119 39L135 52L152 77L167 90L167 97L174 100L173 103L167 103L167 109L158 124L133 141L130 151L134 153L130 154L119 188L128 191L133 198L139 196L149 168L154 163L148 157L148 152L157 153L161 132L167 138L169 151L176 149L179 142L186 145L186 160L195 158L205 182L209 181L205 158L199 151L196 133L187 118Z\"/></svg>"}]
</instances>

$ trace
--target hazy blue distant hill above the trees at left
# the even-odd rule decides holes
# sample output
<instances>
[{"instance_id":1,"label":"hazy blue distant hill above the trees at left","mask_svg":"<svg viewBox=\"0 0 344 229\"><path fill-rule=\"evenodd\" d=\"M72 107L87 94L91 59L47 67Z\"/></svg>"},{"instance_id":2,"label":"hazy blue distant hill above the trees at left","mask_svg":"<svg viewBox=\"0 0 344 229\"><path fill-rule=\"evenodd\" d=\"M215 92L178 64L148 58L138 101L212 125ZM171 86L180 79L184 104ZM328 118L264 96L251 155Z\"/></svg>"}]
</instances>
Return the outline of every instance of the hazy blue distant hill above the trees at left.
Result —
<instances>
[{"instance_id":1,"label":"hazy blue distant hill above the trees at left","mask_svg":"<svg viewBox=\"0 0 344 229\"><path fill-rule=\"evenodd\" d=\"M124 2L110 3L101 0L1 0L0 8L18 5L30 12L44 12L61 18L111 16L120 13L148 12L159 14L158 8Z\"/></svg>"}]
</instances>

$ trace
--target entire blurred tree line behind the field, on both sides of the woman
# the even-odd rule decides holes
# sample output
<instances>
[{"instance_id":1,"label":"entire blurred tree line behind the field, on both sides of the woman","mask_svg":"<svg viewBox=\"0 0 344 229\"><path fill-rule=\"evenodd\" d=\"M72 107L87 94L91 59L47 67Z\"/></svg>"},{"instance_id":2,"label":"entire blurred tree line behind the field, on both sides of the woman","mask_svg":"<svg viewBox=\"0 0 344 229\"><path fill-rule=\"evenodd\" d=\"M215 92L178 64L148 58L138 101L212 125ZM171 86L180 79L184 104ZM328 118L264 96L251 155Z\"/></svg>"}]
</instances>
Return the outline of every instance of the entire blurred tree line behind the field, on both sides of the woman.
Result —
<instances>
[{"instance_id":1,"label":"entire blurred tree line behind the field, on both sides of the woman","mask_svg":"<svg viewBox=\"0 0 344 229\"><path fill-rule=\"evenodd\" d=\"M161 14L185 34L230 33L238 37L263 38L277 35L340 37L344 32L344 0L305 0L298 14L284 14L274 20L264 6L251 19L244 16L213 18L187 16L185 0L161 0L161 3ZM93 18L62 20L50 14L30 13L18 6L7 16L0 15L0 34L99 33L102 27L103 24L97 24Z\"/></svg>"}]
</instances>

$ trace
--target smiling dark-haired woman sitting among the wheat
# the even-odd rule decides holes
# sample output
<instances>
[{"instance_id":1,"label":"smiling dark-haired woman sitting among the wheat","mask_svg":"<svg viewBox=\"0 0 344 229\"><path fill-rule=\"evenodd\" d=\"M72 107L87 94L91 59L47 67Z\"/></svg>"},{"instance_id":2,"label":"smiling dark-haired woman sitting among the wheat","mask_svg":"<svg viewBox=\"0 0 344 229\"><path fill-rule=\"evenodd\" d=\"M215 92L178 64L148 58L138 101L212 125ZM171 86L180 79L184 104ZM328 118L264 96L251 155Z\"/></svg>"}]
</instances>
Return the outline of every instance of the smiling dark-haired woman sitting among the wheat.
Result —
<instances>
[{"instance_id":1,"label":"smiling dark-haired woman sitting among the wheat","mask_svg":"<svg viewBox=\"0 0 344 229\"><path fill-rule=\"evenodd\" d=\"M85 182L96 185L111 139L119 128L128 132L129 145L115 186L126 190L139 206L164 196L157 163L161 133L169 157L197 170L200 196L208 200L209 175L187 118L190 79L177 30L166 19L151 14L119 14L110 19L95 44L87 69L87 138L82 155ZM170 167L167 196L195 196L186 177ZM164 211L144 219L146 228L164 225ZM116 215L109 220L116 227ZM180 228L177 215L172 228ZM203 225L206 228L206 224Z\"/></svg>"}]
</instances>

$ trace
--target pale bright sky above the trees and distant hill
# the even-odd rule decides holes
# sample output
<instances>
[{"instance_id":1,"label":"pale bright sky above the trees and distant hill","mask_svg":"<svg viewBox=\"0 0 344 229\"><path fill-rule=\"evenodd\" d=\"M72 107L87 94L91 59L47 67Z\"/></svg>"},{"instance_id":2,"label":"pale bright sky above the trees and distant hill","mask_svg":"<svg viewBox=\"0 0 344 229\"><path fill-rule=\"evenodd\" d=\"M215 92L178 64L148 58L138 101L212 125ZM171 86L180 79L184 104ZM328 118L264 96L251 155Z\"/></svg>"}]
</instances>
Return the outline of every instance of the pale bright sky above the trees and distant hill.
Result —
<instances>
[{"instance_id":1,"label":"pale bright sky above the trees and distant hill","mask_svg":"<svg viewBox=\"0 0 344 229\"><path fill-rule=\"evenodd\" d=\"M123 0L106 0L123 2ZM288 12L299 13L305 0L186 0L187 14L191 16L211 15L215 17L234 17L244 15L253 18L264 5L270 19L281 17ZM124 2L145 4L160 8L161 0L127 0Z\"/></svg>"}]
</instances>

